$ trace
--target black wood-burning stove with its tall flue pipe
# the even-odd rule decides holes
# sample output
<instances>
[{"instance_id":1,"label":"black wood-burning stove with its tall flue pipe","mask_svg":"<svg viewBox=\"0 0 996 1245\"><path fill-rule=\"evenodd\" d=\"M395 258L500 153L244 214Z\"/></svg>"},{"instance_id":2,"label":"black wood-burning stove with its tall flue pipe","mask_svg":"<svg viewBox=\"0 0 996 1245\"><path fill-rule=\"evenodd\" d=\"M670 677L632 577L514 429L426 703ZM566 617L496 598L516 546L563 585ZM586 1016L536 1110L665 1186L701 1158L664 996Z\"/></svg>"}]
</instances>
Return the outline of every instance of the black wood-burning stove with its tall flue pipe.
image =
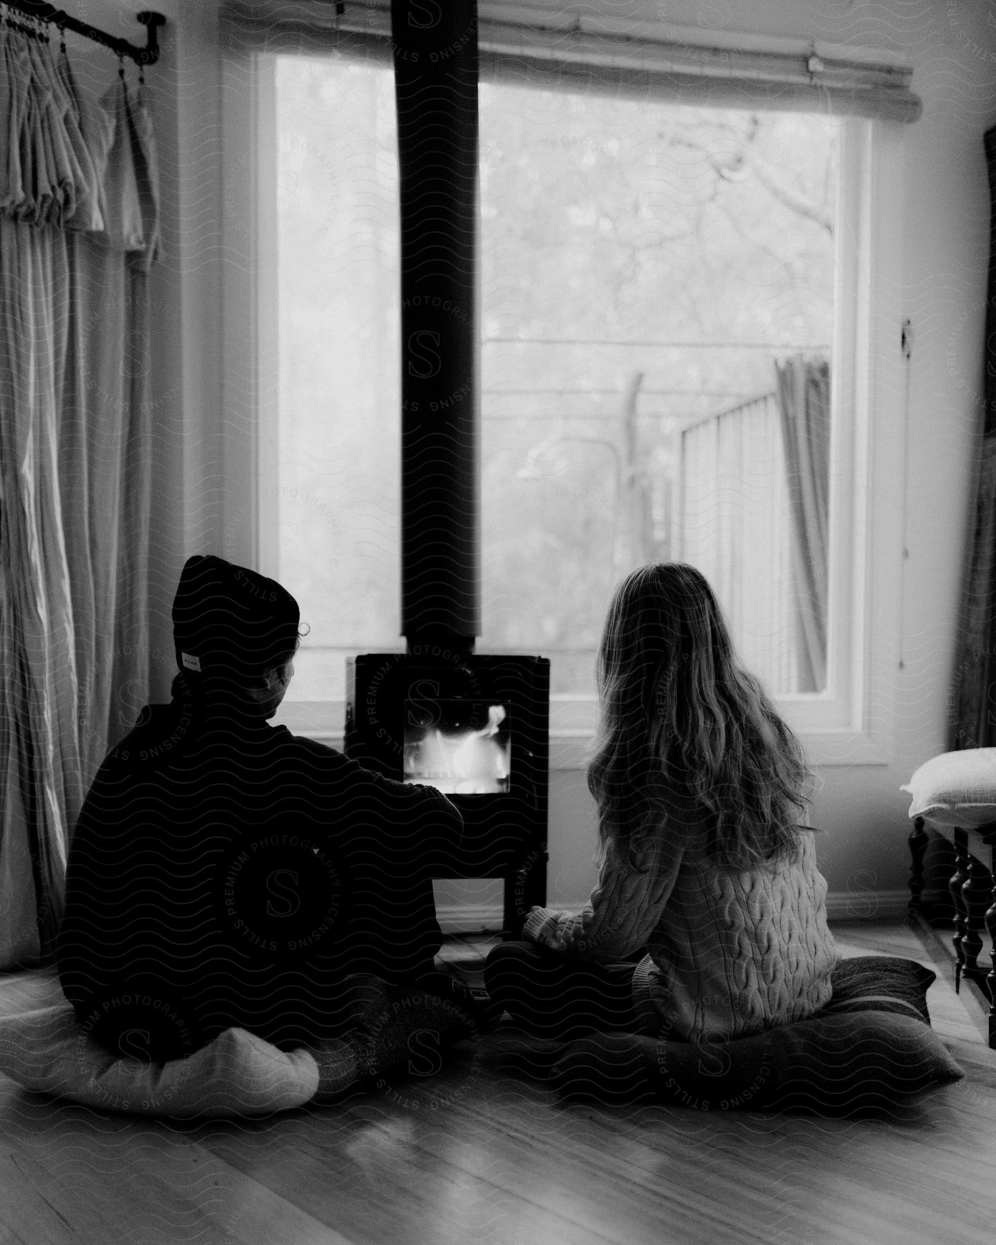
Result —
<instances>
[{"instance_id":1,"label":"black wood-burning stove with its tall flue pipe","mask_svg":"<svg viewBox=\"0 0 996 1245\"><path fill-rule=\"evenodd\" d=\"M347 664L346 752L439 787L461 875L503 878L504 933L547 891L549 661L481 630L477 12L392 0L401 203L401 632Z\"/></svg>"}]
</instances>

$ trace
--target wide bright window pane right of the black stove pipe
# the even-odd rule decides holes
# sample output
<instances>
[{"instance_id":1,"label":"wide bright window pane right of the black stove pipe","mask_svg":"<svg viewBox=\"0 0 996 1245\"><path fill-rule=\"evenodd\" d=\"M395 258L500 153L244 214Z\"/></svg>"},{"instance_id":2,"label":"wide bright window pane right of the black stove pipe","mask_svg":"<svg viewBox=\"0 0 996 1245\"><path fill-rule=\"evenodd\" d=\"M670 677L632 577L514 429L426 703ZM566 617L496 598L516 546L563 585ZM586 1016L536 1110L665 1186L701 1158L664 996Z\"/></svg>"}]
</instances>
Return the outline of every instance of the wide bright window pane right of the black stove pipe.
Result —
<instances>
[{"instance_id":1,"label":"wide bright window pane right of the black stove pipe","mask_svg":"<svg viewBox=\"0 0 996 1245\"><path fill-rule=\"evenodd\" d=\"M799 489L828 412L793 510L774 364L828 371L838 123L488 83L481 125L481 646L590 692L613 586L679 558L772 691L819 690L801 644L814 611L825 629L825 479L815 518ZM809 553L822 534L822 598L793 522Z\"/></svg>"}]
</instances>

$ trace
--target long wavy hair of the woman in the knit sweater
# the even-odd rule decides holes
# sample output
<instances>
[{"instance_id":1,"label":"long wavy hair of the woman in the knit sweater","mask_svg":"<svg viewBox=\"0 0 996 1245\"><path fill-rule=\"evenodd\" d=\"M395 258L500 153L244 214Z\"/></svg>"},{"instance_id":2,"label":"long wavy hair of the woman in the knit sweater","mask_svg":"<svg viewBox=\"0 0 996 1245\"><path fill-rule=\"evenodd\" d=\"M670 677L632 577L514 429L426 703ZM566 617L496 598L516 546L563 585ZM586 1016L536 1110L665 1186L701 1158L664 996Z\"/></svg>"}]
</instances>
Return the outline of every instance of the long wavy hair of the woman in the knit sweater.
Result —
<instances>
[{"instance_id":1,"label":"long wavy hair of the woman in the knit sweater","mask_svg":"<svg viewBox=\"0 0 996 1245\"><path fill-rule=\"evenodd\" d=\"M797 857L812 774L761 682L740 665L693 566L662 563L616 589L598 659L600 721L588 766L609 842L632 859L661 834L700 834L749 869Z\"/></svg>"}]
</instances>

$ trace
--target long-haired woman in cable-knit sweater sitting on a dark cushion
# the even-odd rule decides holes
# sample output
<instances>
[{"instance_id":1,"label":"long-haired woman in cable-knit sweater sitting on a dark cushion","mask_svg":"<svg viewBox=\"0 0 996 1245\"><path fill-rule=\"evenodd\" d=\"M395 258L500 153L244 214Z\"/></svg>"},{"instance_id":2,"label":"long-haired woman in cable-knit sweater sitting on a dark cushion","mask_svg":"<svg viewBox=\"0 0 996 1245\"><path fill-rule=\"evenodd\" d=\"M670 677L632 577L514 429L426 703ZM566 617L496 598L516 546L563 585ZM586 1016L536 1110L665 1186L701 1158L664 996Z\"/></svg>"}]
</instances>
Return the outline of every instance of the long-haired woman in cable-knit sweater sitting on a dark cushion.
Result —
<instances>
[{"instance_id":1,"label":"long-haired woman in cable-knit sweater sitting on a dark cushion","mask_svg":"<svg viewBox=\"0 0 996 1245\"><path fill-rule=\"evenodd\" d=\"M622 581L598 681L599 881L580 914L534 908L528 942L492 952L493 1001L564 1036L705 1042L812 1016L839 956L799 824L810 774L695 568Z\"/></svg>"}]
</instances>

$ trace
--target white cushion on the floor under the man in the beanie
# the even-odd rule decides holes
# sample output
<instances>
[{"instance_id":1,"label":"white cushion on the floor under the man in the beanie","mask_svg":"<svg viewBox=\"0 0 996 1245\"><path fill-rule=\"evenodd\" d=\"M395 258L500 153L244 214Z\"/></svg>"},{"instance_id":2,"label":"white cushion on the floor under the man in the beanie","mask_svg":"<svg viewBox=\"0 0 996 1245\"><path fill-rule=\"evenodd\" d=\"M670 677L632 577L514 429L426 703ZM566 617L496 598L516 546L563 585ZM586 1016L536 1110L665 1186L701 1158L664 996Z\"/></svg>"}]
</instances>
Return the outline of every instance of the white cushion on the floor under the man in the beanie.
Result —
<instances>
[{"instance_id":1,"label":"white cushion on the floor under the man in the beanie","mask_svg":"<svg viewBox=\"0 0 996 1245\"><path fill-rule=\"evenodd\" d=\"M143 1063L98 1046L68 1003L0 1018L0 1072L25 1089L87 1107L181 1118L269 1116L319 1088L309 1051L229 1028L186 1059Z\"/></svg>"}]
</instances>

